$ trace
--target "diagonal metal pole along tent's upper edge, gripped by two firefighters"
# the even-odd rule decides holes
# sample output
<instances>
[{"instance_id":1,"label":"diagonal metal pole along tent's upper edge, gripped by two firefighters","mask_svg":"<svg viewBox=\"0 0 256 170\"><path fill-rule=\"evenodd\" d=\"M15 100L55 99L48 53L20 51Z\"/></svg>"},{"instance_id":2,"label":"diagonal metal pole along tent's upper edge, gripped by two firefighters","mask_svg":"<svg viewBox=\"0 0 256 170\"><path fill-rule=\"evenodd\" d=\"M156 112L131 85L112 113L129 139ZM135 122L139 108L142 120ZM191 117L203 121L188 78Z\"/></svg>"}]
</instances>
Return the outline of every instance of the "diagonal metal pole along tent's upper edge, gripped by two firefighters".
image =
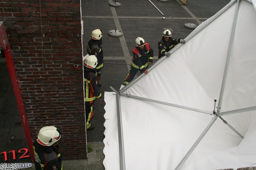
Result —
<instances>
[{"instance_id":1,"label":"diagonal metal pole along tent's upper edge, gripped by two firefighters","mask_svg":"<svg viewBox=\"0 0 256 170\"><path fill-rule=\"evenodd\" d=\"M186 38L185 40L188 41L189 39L191 39L192 37L194 37L198 32L200 32L202 29L204 29L208 24L210 24L213 20L215 20L216 18L218 18L223 12L225 12L228 8L230 8L231 6L233 6L236 3L237 0L233 0L230 1L230 3L228 3L224 8L222 8L219 12L217 12L214 16L212 16L211 18L207 19L202 25L200 25L199 27L197 27L193 32L191 32ZM176 46L174 46L172 48L172 50L170 50L168 53L173 53L174 51L176 51L180 46L182 46L181 44L177 44ZM153 64L150 68L148 68L148 71L150 71L151 69L153 69L154 67L156 67L157 64L159 64L161 61L163 61L166 58L166 56L161 57L159 60L156 61L155 64ZM142 73L140 74L139 77L137 77L136 79L134 79L133 81L131 81L129 84L127 84L124 88L120 89L119 92L124 92L124 90L128 89L133 83L135 83L136 81L138 81L142 76L144 76L145 74Z\"/></svg>"}]
</instances>

